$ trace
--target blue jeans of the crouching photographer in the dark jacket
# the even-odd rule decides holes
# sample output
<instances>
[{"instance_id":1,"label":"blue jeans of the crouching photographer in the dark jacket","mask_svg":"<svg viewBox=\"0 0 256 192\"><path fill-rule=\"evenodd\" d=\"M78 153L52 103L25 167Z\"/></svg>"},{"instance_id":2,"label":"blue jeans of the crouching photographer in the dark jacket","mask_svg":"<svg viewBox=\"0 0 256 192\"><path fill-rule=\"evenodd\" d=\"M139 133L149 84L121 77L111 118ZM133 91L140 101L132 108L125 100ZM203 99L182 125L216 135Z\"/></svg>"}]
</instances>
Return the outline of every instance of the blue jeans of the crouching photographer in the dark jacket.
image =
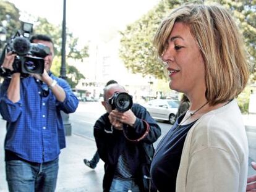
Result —
<instances>
[{"instance_id":1,"label":"blue jeans of the crouching photographer in the dark jacket","mask_svg":"<svg viewBox=\"0 0 256 192\"><path fill-rule=\"evenodd\" d=\"M109 192L140 192L139 186L132 180L119 180L117 178L113 179Z\"/></svg>"}]
</instances>

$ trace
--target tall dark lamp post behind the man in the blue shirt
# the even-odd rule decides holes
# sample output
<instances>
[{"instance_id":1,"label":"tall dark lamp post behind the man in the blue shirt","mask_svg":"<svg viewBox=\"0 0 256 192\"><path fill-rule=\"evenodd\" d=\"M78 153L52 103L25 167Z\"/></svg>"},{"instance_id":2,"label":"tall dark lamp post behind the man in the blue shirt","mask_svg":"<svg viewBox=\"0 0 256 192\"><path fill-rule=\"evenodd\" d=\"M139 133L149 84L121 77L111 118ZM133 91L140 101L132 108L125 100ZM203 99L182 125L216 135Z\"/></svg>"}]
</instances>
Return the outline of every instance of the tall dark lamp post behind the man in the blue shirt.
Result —
<instances>
[{"instance_id":1,"label":"tall dark lamp post behind the man in the blue shirt","mask_svg":"<svg viewBox=\"0 0 256 192\"><path fill-rule=\"evenodd\" d=\"M66 0L63 0L63 20L62 20L62 46L61 46L61 78L65 79L66 76ZM69 114L61 111L62 120L66 136L72 134L72 127L69 122Z\"/></svg>"}]
</instances>

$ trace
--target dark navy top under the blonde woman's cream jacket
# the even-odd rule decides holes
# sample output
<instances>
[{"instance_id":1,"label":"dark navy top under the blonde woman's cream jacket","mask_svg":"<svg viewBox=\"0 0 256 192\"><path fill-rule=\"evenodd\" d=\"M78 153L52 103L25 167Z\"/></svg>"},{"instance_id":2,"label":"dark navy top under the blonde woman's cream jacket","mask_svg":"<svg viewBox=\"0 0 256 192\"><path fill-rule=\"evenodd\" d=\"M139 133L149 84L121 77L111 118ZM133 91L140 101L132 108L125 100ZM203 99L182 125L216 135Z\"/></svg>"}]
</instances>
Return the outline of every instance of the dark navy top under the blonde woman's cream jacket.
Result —
<instances>
[{"instance_id":1,"label":"dark navy top under the blonde woman's cream jacket","mask_svg":"<svg viewBox=\"0 0 256 192\"><path fill-rule=\"evenodd\" d=\"M151 163L151 178L158 191L175 191L176 177L187 132L195 122L178 127L179 117L158 144Z\"/></svg>"}]
</instances>

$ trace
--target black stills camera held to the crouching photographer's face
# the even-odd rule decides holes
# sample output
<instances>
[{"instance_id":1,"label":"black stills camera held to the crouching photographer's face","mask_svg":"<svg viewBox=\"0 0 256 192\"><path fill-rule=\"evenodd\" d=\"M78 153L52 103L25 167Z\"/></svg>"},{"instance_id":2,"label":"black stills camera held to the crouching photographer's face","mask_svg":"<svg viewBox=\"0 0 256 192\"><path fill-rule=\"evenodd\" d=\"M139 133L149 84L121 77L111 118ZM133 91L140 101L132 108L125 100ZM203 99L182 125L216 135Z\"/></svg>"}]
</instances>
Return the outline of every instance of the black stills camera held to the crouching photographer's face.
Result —
<instances>
[{"instance_id":1,"label":"black stills camera held to the crouching photographer's face","mask_svg":"<svg viewBox=\"0 0 256 192\"><path fill-rule=\"evenodd\" d=\"M132 96L126 92L116 92L111 98L108 99L108 103L112 109L117 109L119 112L126 112L132 107Z\"/></svg>"}]
</instances>

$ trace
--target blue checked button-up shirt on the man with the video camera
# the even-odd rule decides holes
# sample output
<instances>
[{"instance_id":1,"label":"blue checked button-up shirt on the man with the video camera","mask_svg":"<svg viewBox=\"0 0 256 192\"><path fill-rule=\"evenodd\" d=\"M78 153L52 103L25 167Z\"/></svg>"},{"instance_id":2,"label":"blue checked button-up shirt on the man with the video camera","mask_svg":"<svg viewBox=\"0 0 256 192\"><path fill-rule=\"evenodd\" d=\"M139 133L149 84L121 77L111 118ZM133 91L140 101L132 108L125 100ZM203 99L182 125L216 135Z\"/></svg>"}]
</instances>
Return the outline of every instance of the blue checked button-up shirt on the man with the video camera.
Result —
<instances>
[{"instance_id":1,"label":"blue checked button-up shirt on the man with the video camera","mask_svg":"<svg viewBox=\"0 0 256 192\"><path fill-rule=\"evenodd\" d=\"M7 98L11 79L6 78L0 89L0 112L7 121L4 148L30 162L48 162L59 156L60 149L66 147L61 111L74 112L79 103L65 80L49 75L64 89L64 102L34 77L20 80L18 102Z\"/></svg>"}]
</instances>

